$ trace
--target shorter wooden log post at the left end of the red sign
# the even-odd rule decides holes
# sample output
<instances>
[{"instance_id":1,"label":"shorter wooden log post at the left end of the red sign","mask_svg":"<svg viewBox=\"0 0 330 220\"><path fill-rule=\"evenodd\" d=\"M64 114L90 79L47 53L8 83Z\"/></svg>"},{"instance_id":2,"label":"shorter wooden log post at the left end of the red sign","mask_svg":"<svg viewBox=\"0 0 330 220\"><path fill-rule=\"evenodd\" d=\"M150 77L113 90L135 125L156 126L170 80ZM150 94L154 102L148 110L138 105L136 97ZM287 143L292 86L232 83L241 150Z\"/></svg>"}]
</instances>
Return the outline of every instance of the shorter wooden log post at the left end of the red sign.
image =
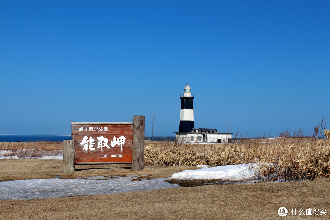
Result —
<instances>
[{"instance_id":1,"label":"shorter wooden log post at the left end of the red sign","mask_svg":"<svg viewBox=\"0 0 330 220\"><path fill-rule=\"evenodd\" d=\"M63 140L63 173L72 174L75 172L75 142Z\"/></svg>"}]
</instances>

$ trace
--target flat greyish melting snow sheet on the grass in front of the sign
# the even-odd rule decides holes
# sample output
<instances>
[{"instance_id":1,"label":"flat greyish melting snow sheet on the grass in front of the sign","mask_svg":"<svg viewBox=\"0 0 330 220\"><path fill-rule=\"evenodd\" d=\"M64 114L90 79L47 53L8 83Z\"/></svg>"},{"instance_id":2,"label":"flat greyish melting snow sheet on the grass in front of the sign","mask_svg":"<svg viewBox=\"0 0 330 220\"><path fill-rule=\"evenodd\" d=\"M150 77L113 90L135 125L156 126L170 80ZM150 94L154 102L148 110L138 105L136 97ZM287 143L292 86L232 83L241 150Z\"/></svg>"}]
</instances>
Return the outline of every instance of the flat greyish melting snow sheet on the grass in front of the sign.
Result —
<instances>
[{"instance_id":1,"label":"flat greyish melting snow sheet on the grass in front of the sign","mask_svg":"<svg viewBox=\"0 0 330 220\"><path fill-rule=\"evenodd\" d=\"M132 181L138 176L94 176L74 179L26 179L0 182L0 200L44 199L165 189L179 185L162 178Z\"/></svg>"}]
</instances>

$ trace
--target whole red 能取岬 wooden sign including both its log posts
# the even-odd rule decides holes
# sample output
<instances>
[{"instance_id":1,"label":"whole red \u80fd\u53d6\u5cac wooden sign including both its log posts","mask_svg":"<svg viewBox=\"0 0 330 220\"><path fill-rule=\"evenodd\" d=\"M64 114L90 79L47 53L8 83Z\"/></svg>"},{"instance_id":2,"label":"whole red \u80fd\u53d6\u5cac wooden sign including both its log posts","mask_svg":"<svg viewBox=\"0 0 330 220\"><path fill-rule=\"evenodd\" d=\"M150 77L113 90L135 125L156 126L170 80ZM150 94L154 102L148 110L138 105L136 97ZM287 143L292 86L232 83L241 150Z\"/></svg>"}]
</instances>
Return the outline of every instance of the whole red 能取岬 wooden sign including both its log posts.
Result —
<instances>
[{"instance_id":1,"label":"whole red \u80fd\u53d6\u5cac wooden sign including both its log posts","mask_svg":"<svg viewBox=\"0 0 330 220\"><path fill-rule=\"evenodd\" d=\"M144 168L145 116L133 122L71 122L71 139L63 141L63 173L75 172L76 164L131 164Z\"/></svg>"}]
</instances>

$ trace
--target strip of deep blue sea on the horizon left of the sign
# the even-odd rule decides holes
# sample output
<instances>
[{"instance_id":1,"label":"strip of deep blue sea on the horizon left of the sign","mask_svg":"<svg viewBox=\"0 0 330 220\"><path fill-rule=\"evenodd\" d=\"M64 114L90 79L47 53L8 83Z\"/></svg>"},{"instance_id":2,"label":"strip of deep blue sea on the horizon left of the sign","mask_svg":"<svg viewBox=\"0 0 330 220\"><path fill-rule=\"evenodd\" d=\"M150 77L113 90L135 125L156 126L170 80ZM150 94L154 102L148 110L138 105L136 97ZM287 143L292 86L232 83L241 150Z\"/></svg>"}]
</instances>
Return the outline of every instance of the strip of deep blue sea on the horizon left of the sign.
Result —
<instances>
[{"instance_id":1,"label":"strip of deep blue sea on the horizon left of the sign","mask_svg":"<svg viewBox=\"0 0 330 220\"><path fill-rule=\"evenodd\" d=\"M0 135L0 142L63 142L71 140L71 135Z\"/></svg>"}]
</instances>

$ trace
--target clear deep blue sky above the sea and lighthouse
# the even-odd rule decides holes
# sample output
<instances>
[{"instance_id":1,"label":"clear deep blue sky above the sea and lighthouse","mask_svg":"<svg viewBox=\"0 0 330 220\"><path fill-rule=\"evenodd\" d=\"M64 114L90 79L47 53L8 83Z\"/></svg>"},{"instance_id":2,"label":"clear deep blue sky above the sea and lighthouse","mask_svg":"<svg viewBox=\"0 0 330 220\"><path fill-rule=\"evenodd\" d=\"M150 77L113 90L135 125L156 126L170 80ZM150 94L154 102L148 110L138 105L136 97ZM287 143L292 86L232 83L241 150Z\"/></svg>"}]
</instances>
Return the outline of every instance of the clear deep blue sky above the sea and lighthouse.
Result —
<instances>
[{"instance_id":1,"label":"clear deep blue sky above the sea and lighthouse","mask_svg":"<svg viewBox=\"0 0 330 220\"><path fill-rule=\"evenodd\" d=\"M0 134L71 134L71 121L247 136L329 119L330 1L0 1ZM329 126L328 126L329 127Z\"/></svg>"}]
</instances>

